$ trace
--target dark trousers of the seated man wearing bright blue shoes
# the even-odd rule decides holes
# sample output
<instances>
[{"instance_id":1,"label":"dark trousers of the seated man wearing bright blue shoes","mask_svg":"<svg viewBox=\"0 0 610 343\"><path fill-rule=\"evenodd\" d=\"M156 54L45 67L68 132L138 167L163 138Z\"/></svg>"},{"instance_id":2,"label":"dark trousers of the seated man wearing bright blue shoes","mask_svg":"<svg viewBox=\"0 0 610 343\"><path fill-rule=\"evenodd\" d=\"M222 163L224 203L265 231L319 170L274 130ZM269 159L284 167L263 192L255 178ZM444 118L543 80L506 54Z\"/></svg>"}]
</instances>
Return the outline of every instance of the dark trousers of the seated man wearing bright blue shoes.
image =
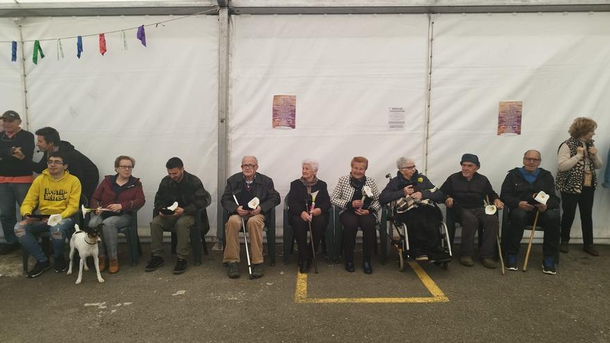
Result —
<instances>
[{"instance_id":1,"label":"dark trousers of the seated man wearing bright blue shoes","mask_svg":"<svg viewBox=\"0 0 610 343\"><path fill-rule=\"evenodd\" d=\"M506 209L504 211L506 211ZM521 244L521 238L523 238L525 225L533 225L535 216L536 211L525 211L518 208L510 210L507 254L516 255L519 252L519 245ZM544 230L542 243L543 256L557 255L560 219L559 209L540 212L538 215L537 227L541 226Z\"/></svg>"}]
</instances>

